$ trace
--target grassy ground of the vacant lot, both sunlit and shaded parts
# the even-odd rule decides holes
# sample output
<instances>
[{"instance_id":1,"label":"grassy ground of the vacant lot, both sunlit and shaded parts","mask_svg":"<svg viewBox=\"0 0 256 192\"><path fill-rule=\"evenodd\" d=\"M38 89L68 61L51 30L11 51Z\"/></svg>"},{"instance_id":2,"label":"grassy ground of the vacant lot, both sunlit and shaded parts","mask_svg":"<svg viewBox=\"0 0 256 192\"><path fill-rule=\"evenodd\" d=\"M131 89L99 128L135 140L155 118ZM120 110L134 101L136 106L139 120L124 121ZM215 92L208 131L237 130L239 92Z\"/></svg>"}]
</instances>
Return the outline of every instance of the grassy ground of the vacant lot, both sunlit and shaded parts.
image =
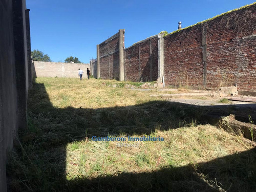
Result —
<instances>
[{"instance_id":1,"label":"grassy ground of the vacant lot, both sunlit and shaded parts","mask_svg":"<svg viewBox=\"0 0 256 192\"><path fill-rule=\"evenodd\" d=\"M139 86L37 78L28 130L19 130L10 154L11 191L255 190L256 152L249 142L207 124L207 108L150 97L157 89L127 89Z\"/></svg>"}]
</instances>

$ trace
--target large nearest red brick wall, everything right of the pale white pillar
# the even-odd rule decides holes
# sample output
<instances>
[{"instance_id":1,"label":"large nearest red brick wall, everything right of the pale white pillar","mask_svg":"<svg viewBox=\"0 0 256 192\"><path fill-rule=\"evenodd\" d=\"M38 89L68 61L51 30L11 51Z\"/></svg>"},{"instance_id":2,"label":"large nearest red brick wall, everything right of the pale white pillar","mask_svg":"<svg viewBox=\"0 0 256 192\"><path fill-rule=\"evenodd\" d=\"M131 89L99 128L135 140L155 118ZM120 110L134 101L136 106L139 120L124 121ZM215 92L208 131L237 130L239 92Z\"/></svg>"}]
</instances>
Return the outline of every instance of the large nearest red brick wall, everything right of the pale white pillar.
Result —
<instances>
[{"instance_id":1,"label":"large nearest red brick wall, everything right of the pale white pillar","mask_svg":"<svg viewBox=\"0 0 256 192\"><path fill-rule=\"evenodd\" d=\"M206 87L256 90L256 4L165 36L165 84L203 87L203 25Z\"/></svg>"}]
</instances>

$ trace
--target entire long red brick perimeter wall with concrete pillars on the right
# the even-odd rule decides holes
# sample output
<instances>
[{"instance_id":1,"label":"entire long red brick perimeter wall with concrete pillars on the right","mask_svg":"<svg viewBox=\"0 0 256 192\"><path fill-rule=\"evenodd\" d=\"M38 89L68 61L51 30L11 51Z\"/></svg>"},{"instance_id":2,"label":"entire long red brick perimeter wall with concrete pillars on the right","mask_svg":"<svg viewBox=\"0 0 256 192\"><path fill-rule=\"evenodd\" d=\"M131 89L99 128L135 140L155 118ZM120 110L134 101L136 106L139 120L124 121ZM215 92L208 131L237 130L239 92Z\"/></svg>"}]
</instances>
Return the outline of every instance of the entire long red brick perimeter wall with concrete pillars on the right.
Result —
<instances>
[{"instance_id":1,"label":"entire long red brick perimeter wall with concrete pillars on the right","mask_svg":"<svg viewBox=\"0 0 256 192\"><path fill-rule=\"evenodd\" d=\"M124 80L163 76L166 86L256 91L256 3L165 35L163 45L158 34L123 48L123 69L122 38L117 33L97 46L96 78L119 79L123 70Z\"/></svg>"}]
</instances>

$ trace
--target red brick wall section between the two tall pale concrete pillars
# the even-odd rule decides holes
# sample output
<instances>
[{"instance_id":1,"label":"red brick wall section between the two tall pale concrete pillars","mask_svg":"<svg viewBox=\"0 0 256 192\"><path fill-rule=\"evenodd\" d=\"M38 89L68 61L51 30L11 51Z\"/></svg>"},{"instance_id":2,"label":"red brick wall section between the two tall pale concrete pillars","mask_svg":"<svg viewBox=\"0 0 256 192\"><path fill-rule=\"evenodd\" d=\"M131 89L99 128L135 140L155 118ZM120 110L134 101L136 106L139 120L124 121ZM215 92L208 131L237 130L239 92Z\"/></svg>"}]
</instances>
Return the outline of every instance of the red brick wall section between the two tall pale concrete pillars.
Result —
<instances>
[{"instance_id":1,"label":"red brick wall section between the two tall pale concrete pillars","mask_svg":"<svg viewBox=\"0 0 256 192\"><path fill-rule=\"evenodd\" d=\"M150 43L152 54L150 55ZM139 59L140 50L140 59ZM125 76L130 81L157 80L158 37L145 39L124 50ZM140 63L139 63L140 61ZM139 65L140 64L140 65ZM140 67L139 67L140 66Z\"/></svg>"}]
</instances>

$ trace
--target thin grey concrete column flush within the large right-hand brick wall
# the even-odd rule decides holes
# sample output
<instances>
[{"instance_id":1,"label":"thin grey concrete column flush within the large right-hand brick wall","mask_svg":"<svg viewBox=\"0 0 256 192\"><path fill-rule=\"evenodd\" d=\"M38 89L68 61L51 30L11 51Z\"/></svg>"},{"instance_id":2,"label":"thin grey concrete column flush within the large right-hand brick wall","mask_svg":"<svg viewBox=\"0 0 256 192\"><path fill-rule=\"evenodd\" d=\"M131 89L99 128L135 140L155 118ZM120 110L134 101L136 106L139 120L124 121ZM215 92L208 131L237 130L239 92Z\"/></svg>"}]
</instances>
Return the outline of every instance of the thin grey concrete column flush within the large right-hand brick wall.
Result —
<instances>
[{"instance_id":1,"label":"thin grey concrete column flush within the large right-hand brick wall","mask_svg":"<svg viewBox=\"0 0 256 192\"><path fill-rule=\"evenodd\" d=\"M207 84L207 63L206 63L206 49L207 49L207 44L206 44L206 26L202 27L202 53L203 53L203 86L206 88Z\"/></svg>"}]
</instances>

